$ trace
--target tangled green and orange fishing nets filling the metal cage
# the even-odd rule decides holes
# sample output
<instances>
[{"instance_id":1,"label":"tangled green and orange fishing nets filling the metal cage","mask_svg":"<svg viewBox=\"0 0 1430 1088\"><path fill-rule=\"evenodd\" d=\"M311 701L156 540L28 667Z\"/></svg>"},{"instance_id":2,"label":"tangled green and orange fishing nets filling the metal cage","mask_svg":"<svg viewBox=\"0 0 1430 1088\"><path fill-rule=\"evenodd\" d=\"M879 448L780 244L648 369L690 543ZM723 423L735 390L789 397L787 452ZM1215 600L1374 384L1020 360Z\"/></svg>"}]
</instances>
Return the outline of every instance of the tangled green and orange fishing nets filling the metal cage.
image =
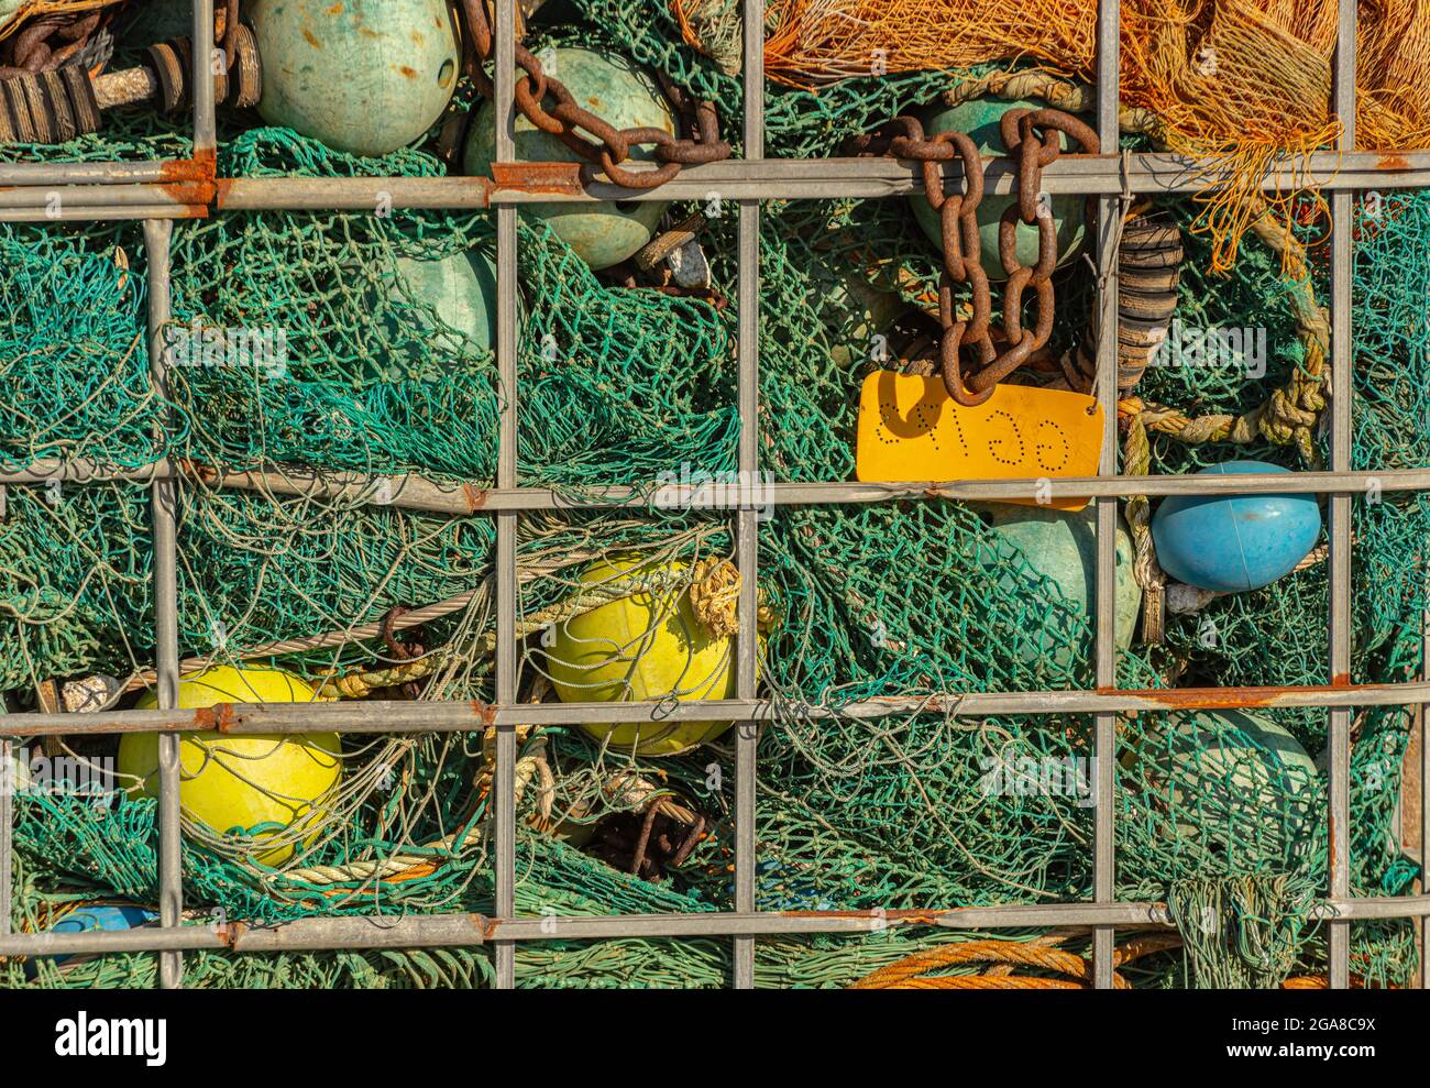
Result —
<instances>
[{"instance_id":1,"label":"tangled green and orange fishing nets filling the metal cage","mask_svg":"<svg viewBox=\"0 0 1430 1088\"><path fill-rule=\"evenodd\" d=\"M721 37L732 6L575 6L582 21L552 41L618 49L715 99L726 130L738 130L739 57ZM887 17L878 30L888 33L904 26L899 19L917 23L927 6L881 7ZM1213 36L1223 64L1236 71L1237 43L1264 44L1264 24L1280 20L1284 33L1271 37L1286 44L1290 34L1294 46L1286 49L1301 59L1297 79L1314 80L1328 57L1324 7L1300 6L1303 14L1294 14L1288 4L1217 4L1207 24L1171 4L1140 3L1124 26L1171 11L1177 19L1160 33ZM1410 7L1387 4L1377 17L1407 26ZM791 84L771 90L771 154L838 154L849 136L902 109L1004 79L1010 41L1024 47L1024 63L1088 76L1091 36L1081 23L1042 19L1037 6L1014 13L984 4L1000 17L977 20L981 39L899 31L882 46L882 77L839 67L868 43L811 36L808 27L818 24L808 20L819 9L771 6L766 63ZM795 26L801 33L791 36ZM1393 86L1390 73L1403 80L1419 70L1416 39L1401 34L1399 49L1390 49L1394 36L1376 26L1363 23L1360 79L1371 93L1361 94L1360 127L1397 132L1409 146L1424 129L1404 120L1414 117L1410 104L1384 89ZM950 41L967 51L935 56L919 46ZM771 63L781 57L784 69ZM1227 150L1230 143L1217 143L1226 136L1220 114L1210 113L1223 106L1185 73L1183 83L1165 73L1153 79L1148 73L1160 71L1153 60L1127 63L1127 102L1155 90L1164 99L1135 109L1163 119L1158 139L1181 150ZM815 69L825 76L808 79ZM1283 150L1333 134L1324 117L1283 114L1276 130ZM1389 117L1406 127L1394 130ZM1130 140L1148 137L1145 119L1124 122ZM182 137L143 114L126 116L124 126L59 150L74 160L183 153ZM1287 140L1286 126L1301 136ZM44 149L49 157L54 150ZM4 153L23 157L24 149ZM235 124L225 132L219 170L330 177L436 176L445 167L426 149L360 160L287 130ZM1288 197L1283 209L1304 254L1291 266L1260 237L1228 252L1226 232L1207 229L1204 200L1168 202L1164 210L1187 246L1177 317L1198 327L1264 326L1266 373L1253 383L1227 369L1153 367L1138 396L1193 419L1241 416L1310 366L1298 299L1307 290L1327 297L1317 204ZM1354 234L1354 466L1419 468L1430 460L1423 380L1430 194L1391 194L1374 210L1361 203ZM715 283L732 293L734 217L711 219L702 243ZM930 312L937 254L897 200L771 202L761 243L761 463L784 480L849 479L854 390L879 365L872 337L891 315ZM146 269L134 227L7 224L0 247L11 270L0 277L0 376L16 409L0 420L6 469L44 459L136 468L172 458L253 473L242 489L220 486L212 473L180 482L186 669L272 663L310 681L320 698L410 698L408 685L418 685L422 699L495 698L492 520L403 509L370 493L295 496L286 486L287 470L302 468L490 485L502 390L489 346L410 279L413 263L463 254L479 254L480 276L480 262L495 252L485 216L267 212L177 224L176 327L280 326L289 356L282 380L252 367L176 367L166 397L154 396L147 379ZM609 286L535 220L522 222L521 254L522 482L579 498L603 483L646 488L681 466L734 469L734 306ZM1093 292L1085 266L1060 273L1057 350L1083 335ZM1194 440L1200 433L1148 426L1148 470L1194 472L1233 456L1308 465L1290 433L1273 440L1256 430L1236 445ZM1307 433L1311 455L1324 458L1324 436ZM33 692L53 678L104 673L130 692L152 683L149 502L137 485L6 489L0 691L10 693L11 709L33 709ZM1354 502L1354 682L1401 682L1423 669L1427 518L1419 496ZM1067 974L1084 959L1084 932L957 934L918 922L921 911L1093 894L1091 718L970 719L930 702L947 692L1093 685L1087 602L992 522L991 509L924 500L779 508L762 525L759 681L775 712L759 733L756 906L884 911L889 925L867 936L761 938L758 985L992 985L1008 971L1048 985L1062 972L1070 985L1085 985L1075 971ZM652 616L621 639L619 661L633 669L644 648L668 638L689 655L681 692L718 685L734 642L725 639L726 652L714 663L696 665L692 648L719 643L732 558L728 519L708 513L652 503L525 515L519 698L559 698L552 688L562 671L581 668L569 646L582 638L582 618L609 605ZM612 562L625 568L618 576L592 578ZM1161 643L1134 642L1120 653L1117 679L1138 689L1324 683L1327 612L1326 563L1310 562L1264 589L1168 615ZM618 685L613 698L636 698L635 683ZM879 718L848 709L891 696L907 702ZM1120 721L1117 895L1167 902L1175 926L1175 939L1163 944L1133 935L1140 944L1118 961L1128 985L1283 985L1324 974L1324 932L1314 921L1314 905L1327 894L1324 718L1267 711L1256 722L1191 722L1175 713ZM1411 728L1401 708L1356 718L1356 894L1409 894L1419 878L1396 825ZM642 739L666 736L662 729L642 728ZM1278 758L1287 738L1306 753L1304 763ZM641 755L575 726L522 726L518 749L519 914L732 908L732 732L694 751ZM100 765L114 742L72 738L63 751L82 761L76 766ZM343 741L340 786L300 832L259 846L186 819L186 924L495 912L493 759L489 729L352 735ZM96 902L156 901L152 801L96 803L53 789L21 792L14 808L17 926L46 928ZM632 845L642 829L649 832L644 854ZM292 848L292 856L263 864L275 844ZM1361 984L1404 985L1413 976L1409 924L1357 922L1351 932L1351 969ZM516 969L521 985L715 986L728 984L732 952L728 941L714 939L556 935L523 944ZM154 974L153 955L0 964L7 985L143 986ZM186 956L193 986L492 979L486 948Z\"/></svg>"}]
</instances>

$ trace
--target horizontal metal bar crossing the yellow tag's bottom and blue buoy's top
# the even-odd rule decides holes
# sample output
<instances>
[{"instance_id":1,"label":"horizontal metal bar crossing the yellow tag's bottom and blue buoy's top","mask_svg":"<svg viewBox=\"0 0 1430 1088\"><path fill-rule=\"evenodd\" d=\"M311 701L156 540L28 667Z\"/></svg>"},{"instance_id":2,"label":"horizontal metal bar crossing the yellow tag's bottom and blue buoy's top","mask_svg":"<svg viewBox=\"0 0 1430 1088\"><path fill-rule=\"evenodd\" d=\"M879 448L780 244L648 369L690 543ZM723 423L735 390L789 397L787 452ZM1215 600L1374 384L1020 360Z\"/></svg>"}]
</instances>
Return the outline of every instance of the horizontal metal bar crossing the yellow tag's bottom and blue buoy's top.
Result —
<instances>
[{"instance_id":1,"label":"horizontal metal bar crossing the yellow tag's bottom and blue buoy's top","mask_svg":"<svg viewBox=\"0 0 1430 1088\"><path fill-rule=\"evenodd\" d=\"M16 472L0 472L0 485L132 482L149 483L173 473L167 460L134 469L103 466L93 460L41 460ZM183 475L209 485L273 495L349 500L375 506L432 513L496 513L511 510L576 510L605 508L728 509L744 506L809 506L874 503L905 499L960 502L1034 500L1071 498L1127 498L1131 495L1367 495L1430 490L1430 469L1386 472L1256 472L1244 476L1188 473L1173 476L1068 476L1010 480L914 480L908 483L821 482L789 483L722 476L711 483L658 486L582 488L483 488L480 483L435 480L415 473L373 476L359 472L320 472L272 468L265 472L217 472L186 463ZM1051 490L1048 490L1051 486Z\"/></svg>"}]
</instances>

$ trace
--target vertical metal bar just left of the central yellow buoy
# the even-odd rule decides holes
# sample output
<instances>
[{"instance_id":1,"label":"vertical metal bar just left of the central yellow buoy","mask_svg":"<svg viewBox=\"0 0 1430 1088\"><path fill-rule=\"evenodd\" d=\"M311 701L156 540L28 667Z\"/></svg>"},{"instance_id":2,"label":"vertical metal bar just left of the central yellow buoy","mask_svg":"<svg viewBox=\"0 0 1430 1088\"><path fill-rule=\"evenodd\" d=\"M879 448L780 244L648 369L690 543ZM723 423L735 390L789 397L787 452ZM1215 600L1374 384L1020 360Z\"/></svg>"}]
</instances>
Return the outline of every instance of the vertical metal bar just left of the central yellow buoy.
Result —
<instances>
[{"instance_id":1,"label":"vertical metal bar just left of the central yellow buoy","mask_svg":"<svg viewBox=\"0 0 1430 1088\"><path fill-rule=\"evenodd\" d=\"M516 0L496 4L496 162L516 159ZM502 390L496 486L516 486L516 209L496 209L496 369ZM516 702L516 519L496 516L496 701ZM516 914L516 732L496 732L496 915ZM516 944L496 942L496 985L516 985Z\"/></svg>"}]
</instances>

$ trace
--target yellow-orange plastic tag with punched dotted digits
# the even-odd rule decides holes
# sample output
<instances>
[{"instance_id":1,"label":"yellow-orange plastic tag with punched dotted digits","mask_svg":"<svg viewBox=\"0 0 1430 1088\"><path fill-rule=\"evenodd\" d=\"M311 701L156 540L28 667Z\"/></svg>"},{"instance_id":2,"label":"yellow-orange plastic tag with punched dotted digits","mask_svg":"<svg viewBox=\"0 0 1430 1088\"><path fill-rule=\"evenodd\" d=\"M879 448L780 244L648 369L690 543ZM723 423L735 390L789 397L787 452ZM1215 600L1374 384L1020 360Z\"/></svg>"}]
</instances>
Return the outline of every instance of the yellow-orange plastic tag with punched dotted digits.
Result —
<instances>
[{"instance_id":1,"label":"yellow-orange plastic tag with punched dotted digits","mask_svg":"<svg viewBox=\"0 0 1430 1088\"><path fill-rule=\"evenodd\" d=\"M867 483L1095 476L1103 450L1097 400L1057 389L1000 385L964 407L940 376L878 370L864 380L855 475ZM1081 510L1087 498L1010 499Z\"/></svg>"}]
</instances>

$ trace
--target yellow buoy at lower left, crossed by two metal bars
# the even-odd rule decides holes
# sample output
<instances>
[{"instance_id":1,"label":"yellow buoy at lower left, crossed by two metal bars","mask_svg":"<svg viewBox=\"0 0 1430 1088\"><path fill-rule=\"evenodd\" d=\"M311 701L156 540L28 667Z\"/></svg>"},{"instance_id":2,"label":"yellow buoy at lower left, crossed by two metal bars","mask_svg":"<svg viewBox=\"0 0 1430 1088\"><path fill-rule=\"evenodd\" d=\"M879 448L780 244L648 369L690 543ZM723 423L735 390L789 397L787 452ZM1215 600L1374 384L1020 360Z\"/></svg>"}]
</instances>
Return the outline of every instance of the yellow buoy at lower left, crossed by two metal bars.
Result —
<instances>
[{"instance_id":1,"label":"yellow buoy at lower left, crossed by two metal bars","mask_svg":"<svg viewBox=\"0 0 1430 1088\"><path fill-rule=\"evenodd\" d=\"M220 666L184 676L179 706L194 711L219 703L313 702L313 689L277 669ZM139 709L159 701L146 695ZM317 836L322 802L342 775L337 733L225 736L183 733L179 749L179 803L186 816L216 835L246 835L262 842L283 836L283 845L253 856L260 865L282 865L295 844ZM142 779L134 791L159 795L159 736L130 733L119 745L120 775ZM124 779L130 781L130 779ZM307 828L312 826L312 834ZM252 856L252 855L250 855Z\"/></svg>"}]
</instances>

